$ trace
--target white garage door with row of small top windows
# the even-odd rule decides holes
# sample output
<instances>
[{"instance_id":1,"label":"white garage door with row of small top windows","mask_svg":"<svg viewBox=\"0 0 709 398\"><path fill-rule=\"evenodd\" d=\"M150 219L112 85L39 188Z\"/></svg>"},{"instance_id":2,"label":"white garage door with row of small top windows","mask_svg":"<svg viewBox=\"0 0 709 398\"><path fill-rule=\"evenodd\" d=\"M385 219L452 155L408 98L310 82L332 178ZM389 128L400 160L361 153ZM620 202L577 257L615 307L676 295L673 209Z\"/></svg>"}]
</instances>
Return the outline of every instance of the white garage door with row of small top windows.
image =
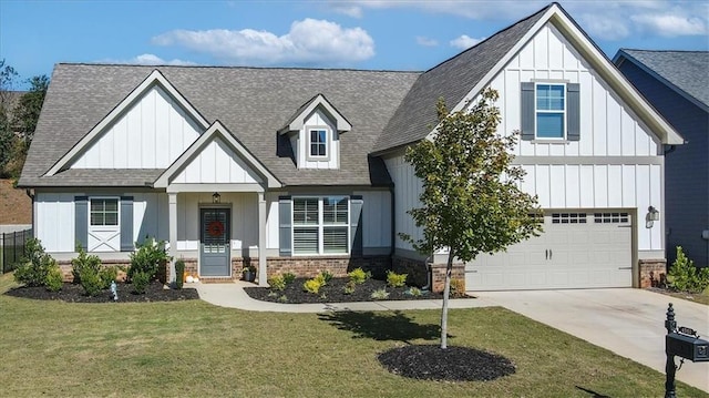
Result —
<instances>
[{"instance_id":1,"label":"white garage door with row of small top windows","mask_svg":"<svg viewBox=\"0 0 709 398\"><path fill-rule=\"evenodd\" d=\"M628 213L544 216L544 233L465 266L467 290L633 286Z\"/></svg>"}]
</instances>

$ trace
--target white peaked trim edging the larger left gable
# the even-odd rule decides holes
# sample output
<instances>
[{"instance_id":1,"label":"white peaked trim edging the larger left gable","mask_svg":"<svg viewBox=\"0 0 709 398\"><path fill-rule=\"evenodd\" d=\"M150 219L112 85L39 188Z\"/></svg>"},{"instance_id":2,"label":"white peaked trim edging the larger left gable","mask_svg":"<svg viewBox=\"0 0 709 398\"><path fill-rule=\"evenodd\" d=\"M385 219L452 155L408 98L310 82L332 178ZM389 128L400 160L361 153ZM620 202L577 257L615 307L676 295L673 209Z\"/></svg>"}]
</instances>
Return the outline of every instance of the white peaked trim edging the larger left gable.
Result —
<instances>
[{"instance_id":1,"label":"white peaked trim edging the larger left gable","mask_svg":"<svg viewBox=\"0 0 709 398\"><path fill-rule=\"evenodd\" d=\"M72 161L74 161L83 150L85 150L93 141L101 134L111 123L115 122L131 105L133 105L142 95L146 94L153 86L160 85L165 92L167 92L184 110L187 111L187 115L192 116L202 129L207 129L209 123L207 120L185 99L184 95L173 86L169 81L155 69L151 74L143 80L131 93L123 99L107 115L105 115L93 129L86 133L69 152L66 152L50 170L45 173L47 176L54 175L65 169Z\"/></svg>"}]
</instances>

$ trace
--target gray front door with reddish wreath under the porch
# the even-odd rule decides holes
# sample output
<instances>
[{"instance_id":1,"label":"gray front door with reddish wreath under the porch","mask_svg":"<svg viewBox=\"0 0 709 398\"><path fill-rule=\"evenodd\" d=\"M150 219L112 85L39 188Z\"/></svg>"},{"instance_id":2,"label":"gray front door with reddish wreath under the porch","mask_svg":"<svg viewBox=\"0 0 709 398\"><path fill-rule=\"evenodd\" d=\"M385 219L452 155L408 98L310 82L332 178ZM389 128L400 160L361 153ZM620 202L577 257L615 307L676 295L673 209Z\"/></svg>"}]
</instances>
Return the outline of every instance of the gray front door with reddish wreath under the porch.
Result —
<instances>
[{"instance_id":1,"label":"gray front door with reddish wreath under the porch","mask_svg":"<svg viewBox=\"0 0 709 398\"><path fill-rule=\"evenodd\" d=\"M201 208L201 276L230 276L229 208Z\"/></svg>"}]
</instances>

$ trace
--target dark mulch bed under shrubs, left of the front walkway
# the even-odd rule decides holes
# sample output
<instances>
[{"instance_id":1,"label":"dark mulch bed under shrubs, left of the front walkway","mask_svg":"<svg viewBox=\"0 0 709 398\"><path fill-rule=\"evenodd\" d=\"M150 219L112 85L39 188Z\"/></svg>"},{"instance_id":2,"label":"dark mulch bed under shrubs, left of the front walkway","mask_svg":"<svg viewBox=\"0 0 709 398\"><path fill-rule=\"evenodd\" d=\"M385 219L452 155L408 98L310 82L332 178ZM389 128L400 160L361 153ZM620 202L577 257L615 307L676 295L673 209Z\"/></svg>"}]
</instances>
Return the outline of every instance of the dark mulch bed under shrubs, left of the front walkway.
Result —
<instances>
[{"instance_id":1,"label":"dark mulch bed under shrubs, left of the front walkway","mask_svg":"<svg viewBox=\"0 0 709 398\"><path fill-rule=\"evenodd\" d=\"M160 282L151 283L145 289L145 294L133 294L130 284L117 284L119 303L145 303L145 302L175 302L186 299L197 299L199 295L196 289L164 289ZM86 296L81 285L64 284L59 292L49 292L44 287L16 287L6 292L8 296L44 299L44 300L62 300L68 303L111 303L110 290L103 290L97 296Z\"/></svg>"}]
</instances>

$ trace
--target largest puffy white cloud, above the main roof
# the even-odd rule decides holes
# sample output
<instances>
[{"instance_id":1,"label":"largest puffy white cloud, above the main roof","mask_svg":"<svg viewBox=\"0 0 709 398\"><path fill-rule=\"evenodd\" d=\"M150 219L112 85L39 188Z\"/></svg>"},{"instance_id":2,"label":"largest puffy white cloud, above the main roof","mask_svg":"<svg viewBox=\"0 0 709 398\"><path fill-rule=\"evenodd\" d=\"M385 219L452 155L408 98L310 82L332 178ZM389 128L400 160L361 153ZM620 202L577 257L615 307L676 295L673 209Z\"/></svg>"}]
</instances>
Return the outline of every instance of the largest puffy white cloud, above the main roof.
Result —
<instances>
[{"instance_id":1,"label":"largest puffy white cloud, above the main roof","mask_svg":"<svg viewBox=\"0 0 709 398\"><path fill-rule=\"evenodd\" d=\"M335 22L307 18L290 31L173 30L153 38L158 45L179 45L230 63L349 64L374 55L374 41L361 28L342 29Z\"/></svg>"}]
</instances>

